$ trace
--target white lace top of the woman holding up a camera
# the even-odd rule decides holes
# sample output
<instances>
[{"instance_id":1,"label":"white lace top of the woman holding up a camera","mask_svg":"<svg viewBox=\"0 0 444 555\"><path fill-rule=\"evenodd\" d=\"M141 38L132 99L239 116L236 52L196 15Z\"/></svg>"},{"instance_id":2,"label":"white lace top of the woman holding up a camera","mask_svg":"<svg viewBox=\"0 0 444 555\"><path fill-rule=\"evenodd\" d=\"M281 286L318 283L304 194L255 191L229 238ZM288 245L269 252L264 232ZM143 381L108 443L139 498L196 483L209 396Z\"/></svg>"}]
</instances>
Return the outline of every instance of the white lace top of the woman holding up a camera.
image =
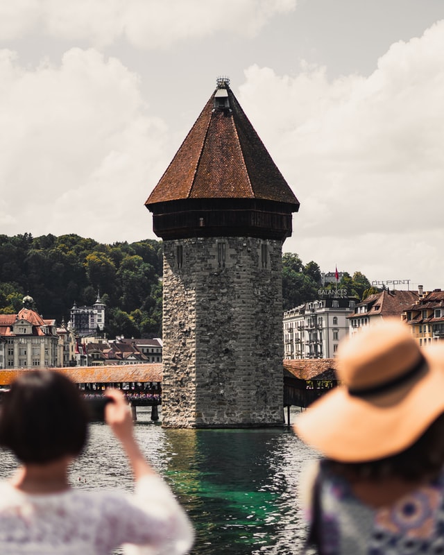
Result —
<instances>
[{"instance_id":1,"label":"white lace top of the woman holding up a camera","mask_svg":"<svg viewBox=\"0 0 444 555\"><path fill-rule=\"evenodd\" d=\"M168 486L155 475L140 479L135 495L69 489L22 493L0 482L0 553L8 555L182 555L194 533Z\"/></svg>"}]
</instances>

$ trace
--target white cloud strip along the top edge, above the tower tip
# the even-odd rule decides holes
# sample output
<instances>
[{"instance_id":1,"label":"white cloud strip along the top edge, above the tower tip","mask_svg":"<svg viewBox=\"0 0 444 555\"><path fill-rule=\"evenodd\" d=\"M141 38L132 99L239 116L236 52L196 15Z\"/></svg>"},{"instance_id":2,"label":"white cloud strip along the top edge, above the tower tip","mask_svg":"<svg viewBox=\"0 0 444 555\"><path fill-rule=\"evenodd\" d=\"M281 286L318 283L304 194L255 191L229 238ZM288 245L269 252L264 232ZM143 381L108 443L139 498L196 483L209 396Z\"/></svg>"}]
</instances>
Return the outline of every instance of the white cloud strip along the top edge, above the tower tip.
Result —
<instances>
[{"instance_id":1,"label":"white cloud strip along the top edge, above the tower tip","mask_svg":"<svg viewBox=\"0 0 444 555\"><path fill-rule=\"evenodd\" d=\"M0 40L28 31L105 46L121 37L141 48L218 32L251 37L296 0L15 0L0 8ZM3 15L3 24L1 16Z\"/></svg>"}]
</instances>

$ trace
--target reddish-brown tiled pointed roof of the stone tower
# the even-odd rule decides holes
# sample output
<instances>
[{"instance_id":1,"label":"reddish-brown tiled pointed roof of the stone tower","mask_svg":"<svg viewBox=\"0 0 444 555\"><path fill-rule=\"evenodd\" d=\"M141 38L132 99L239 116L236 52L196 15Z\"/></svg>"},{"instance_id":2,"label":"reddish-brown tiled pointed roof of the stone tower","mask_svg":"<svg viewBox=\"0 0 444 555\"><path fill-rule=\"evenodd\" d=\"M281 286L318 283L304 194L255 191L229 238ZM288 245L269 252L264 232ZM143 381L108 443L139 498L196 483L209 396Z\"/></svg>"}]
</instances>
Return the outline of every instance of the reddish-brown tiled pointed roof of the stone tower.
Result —
<instances>
[{"instance_id":1,"label":"reddish-brown tiled pointed roof of the stone tower","mask_svg":"<svg viewBox=\"0 0 444 555\"><path fill-rule=\"evenodd\" d=\"M219 83L145 204L152 209L156 203L222 198L299 208L227 81Z\"/></svg>"}]
</instances>

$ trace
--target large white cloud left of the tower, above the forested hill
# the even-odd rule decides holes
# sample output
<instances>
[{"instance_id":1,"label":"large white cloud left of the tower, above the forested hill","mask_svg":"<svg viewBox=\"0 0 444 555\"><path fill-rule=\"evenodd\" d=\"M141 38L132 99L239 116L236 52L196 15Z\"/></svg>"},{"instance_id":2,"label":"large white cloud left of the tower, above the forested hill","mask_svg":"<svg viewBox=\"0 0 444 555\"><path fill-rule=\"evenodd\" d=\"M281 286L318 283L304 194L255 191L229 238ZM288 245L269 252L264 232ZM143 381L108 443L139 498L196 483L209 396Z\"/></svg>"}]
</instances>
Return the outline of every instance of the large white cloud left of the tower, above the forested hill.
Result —
<instances>
[{"instance_id":1,"label":"large white cloud left of the tower, above the forested hill","mask_svg":"<svg viewBox=\"0 0 444 555\"><path fill-rule=\"evenodd\" d=\"M167 130L137 75L92 49L33 70L1 51L0 83L3 232L147 237L143 203L167 164Z\"/></svg>"}]
</instances>

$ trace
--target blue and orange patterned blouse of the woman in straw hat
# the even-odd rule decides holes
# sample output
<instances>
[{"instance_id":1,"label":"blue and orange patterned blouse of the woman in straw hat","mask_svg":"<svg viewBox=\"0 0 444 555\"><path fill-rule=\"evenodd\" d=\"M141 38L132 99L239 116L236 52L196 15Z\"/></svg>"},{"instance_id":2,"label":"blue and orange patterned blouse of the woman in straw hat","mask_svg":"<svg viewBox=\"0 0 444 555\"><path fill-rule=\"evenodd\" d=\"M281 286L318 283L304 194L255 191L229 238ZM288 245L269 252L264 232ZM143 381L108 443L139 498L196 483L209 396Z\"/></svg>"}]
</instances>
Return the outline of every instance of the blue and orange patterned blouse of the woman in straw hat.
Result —
<instances>
[{"instance_id":1,"label":"blue and orange patterned blouse of the woman in straw hat","mask_svg":"<svg viewBox=\"0 0 444 555\"><path fill-rule=\"evenodd\" d=\"M391 506L374 509L343 477L323 463L318 468L323 555L444 555L444 471Z\"/></svg>"}]
</instances>

